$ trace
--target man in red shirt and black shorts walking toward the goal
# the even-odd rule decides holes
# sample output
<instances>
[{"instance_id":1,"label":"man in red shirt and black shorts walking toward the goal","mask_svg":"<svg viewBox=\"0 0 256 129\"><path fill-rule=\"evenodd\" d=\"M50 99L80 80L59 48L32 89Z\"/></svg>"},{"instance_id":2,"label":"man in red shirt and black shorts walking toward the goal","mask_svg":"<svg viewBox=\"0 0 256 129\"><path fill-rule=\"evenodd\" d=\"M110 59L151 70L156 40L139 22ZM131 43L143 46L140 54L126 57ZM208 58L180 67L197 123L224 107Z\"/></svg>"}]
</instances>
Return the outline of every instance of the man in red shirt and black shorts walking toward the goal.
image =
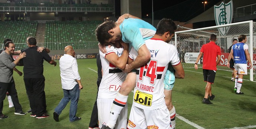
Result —
<instances>
[{"instance_id":1,"label":"man in red shirt and black shorts walking toward the goal","mask_svg":"<svg viewBox=\"0 0 256 129\"><path fill-rule=\"evenodd\" d=\"M217 36L214 34L211 34L210 36L210 42L207 44L204 44L200 50L200 53L197 57L196 63L195 63L195 69L197 69L197 63L199 59L201 59L201 56L203 56L203 74L204 74L204 81L207 81L206 87L205 87L205 94L203 103L204 104L212 104L210 100L214 99L214 95L211 94L211 84L213 84L215 79L215 74L217 70L217 65L220 62L220 47L215 44L215 41L217 39ZM216 60L217 57L217 60ZM210 100L209 100L209 98Z\"/></svg>"}]
</instances>

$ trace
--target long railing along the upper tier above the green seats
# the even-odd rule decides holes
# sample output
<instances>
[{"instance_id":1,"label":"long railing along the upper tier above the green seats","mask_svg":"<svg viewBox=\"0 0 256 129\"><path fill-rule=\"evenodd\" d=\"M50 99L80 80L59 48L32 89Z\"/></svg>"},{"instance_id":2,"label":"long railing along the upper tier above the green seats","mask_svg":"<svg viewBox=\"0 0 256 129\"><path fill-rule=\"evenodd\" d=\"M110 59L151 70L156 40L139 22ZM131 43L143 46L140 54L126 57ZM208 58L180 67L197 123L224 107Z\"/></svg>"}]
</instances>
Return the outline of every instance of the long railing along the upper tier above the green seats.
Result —
<instances>
[{"instance_id":1,"label":"long railing along the upper tier above the green seats","mask_svg":"<svg viewBox=\"0 0 256 129\"><path fill-rule=\"evenodd\" d=\"M113 7L0 7L8 12L114 12Z\"/></svg>"}]
</instances>

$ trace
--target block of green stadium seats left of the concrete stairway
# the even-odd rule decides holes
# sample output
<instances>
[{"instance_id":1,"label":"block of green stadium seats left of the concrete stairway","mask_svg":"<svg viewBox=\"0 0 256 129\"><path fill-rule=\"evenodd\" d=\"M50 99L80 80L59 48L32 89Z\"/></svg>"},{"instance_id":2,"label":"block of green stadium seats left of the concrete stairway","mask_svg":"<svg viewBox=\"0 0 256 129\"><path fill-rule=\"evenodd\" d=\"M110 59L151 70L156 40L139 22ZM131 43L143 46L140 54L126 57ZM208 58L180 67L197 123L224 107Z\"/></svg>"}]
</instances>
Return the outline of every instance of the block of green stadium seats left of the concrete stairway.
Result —
<instances>
[{"instance_id":1,"label":"block of green stadium seats left of the concrete stairway","mask_svg":"<svg viewBox=\"0 0 256 129\"><path fill-rule=\"evenodd\" d=\"M37 21L0 21L0 37L12 39L16 50L27 48L26 38L36 36Z\"/></svg>"}]
</instances>

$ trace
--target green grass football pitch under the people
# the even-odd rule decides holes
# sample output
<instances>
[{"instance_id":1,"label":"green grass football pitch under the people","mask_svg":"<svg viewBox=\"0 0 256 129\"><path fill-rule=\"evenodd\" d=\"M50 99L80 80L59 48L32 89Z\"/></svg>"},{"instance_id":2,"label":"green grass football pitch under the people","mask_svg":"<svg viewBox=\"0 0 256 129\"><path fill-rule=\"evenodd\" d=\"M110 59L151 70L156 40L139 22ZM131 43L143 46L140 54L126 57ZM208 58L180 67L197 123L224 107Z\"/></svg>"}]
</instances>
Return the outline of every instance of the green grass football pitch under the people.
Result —
<instances>
[{"instance_id":1,"label":"green grass football pitch under the people","mask_svg":"<svg viewBox=\"0 0 256 129\"><path fill-rule=\"evenodd\" d=\"M69 122L69 104L59 116L60 121L53 120L53 112L63 97L59 64L56 67L44 63L45 93L49 118L35 119L29 116L14 115L14 108L8 107L7 97L4 100L3 114L8 119L0 120L1 129L88 129L92 107L96 98L97 70L96 59L78 59L79 74L83 85L78 103L77 116L80 121ZM23 67L17 66L22 71ZM95 70L95 71L93 71ZM14 80L23 111L27 111L29 101L26 95L23 77L14 72ZM185 69L185 78L177 79L173 89L173 104L178 114L176 129L223 129L240 127L256 129L256 83L244 80L241 91L244 95L232 93L234 83L230 80L231 72L217 70L213 94L213 104L202 104L204 88L202 69ZM245 76L249 79L249 76ZM132 104L132 93L128 98L128 110ZM154 117L154 116L152 116ZM182 120L181 120L182 119ZM243 128L242 128L243 127Z\"/></svg>"}]
</instances>

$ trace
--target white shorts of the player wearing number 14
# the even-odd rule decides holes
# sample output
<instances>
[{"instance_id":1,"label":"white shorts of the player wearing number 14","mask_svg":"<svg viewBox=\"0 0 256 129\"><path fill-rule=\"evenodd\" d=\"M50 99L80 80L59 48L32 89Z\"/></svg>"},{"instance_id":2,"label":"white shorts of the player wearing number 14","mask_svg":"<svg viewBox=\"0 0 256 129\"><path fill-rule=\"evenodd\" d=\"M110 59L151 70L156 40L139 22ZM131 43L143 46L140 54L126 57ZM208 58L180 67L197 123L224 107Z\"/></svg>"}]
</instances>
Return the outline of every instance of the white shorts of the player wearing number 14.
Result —
<instances>
[{"instance_id":1,"label":"white shorts of the player wearing number 14","mask_svg":"<svg viewBox=\"0 0 256 129\"><path fill-rule=\"evenodd\" d=\"M155 110L132 106L127 129L171 129L170 122L166 106Z\"/></svg>"}]
</instances>

